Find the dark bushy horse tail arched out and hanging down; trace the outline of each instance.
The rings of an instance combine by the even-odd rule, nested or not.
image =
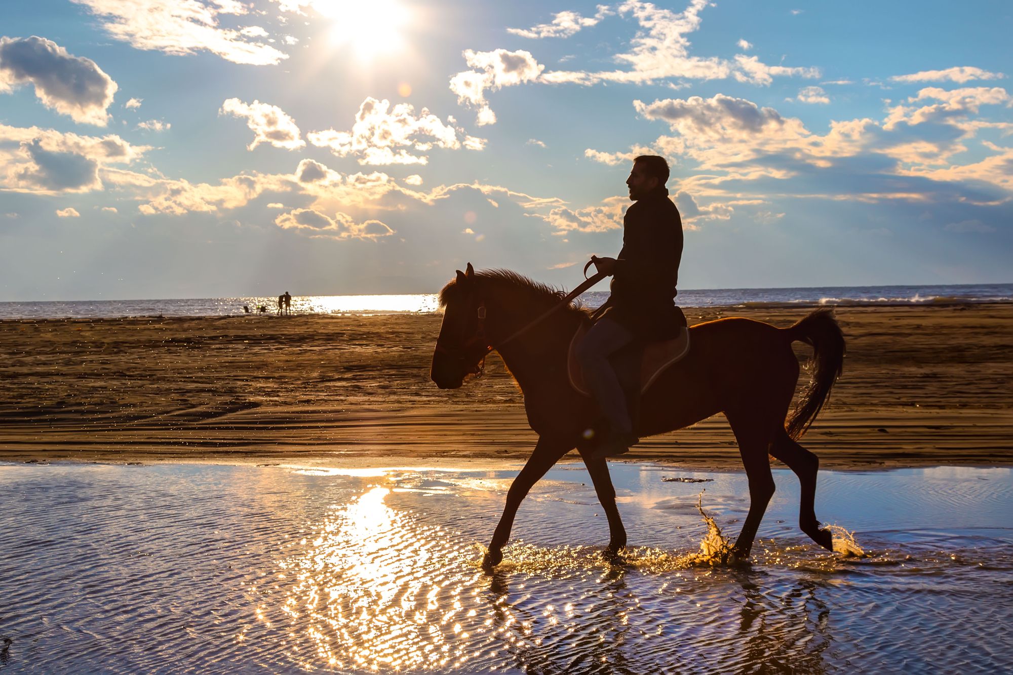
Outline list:
[[[816,419],[830,397],[834,382],[841,376],[844,367],[844,333],[834,318],[834,310],[830,307],[810,312],[808,316],[784,330],[791,342],[800,341],[813,349],[810,361],[812,378],[795,409],[785,422],[788,436],[797,441]]]

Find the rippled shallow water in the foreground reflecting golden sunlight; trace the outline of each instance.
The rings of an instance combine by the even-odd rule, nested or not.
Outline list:
[[[744,475],[614,464],[633,547],[612,566],[564,465],[487,576],[515,473],[0,466],[0,671],[1013,668],[1010,469],[821,473],[816,514],[865,558],[811,544],[776,471],[752,565],[713,567],[697,501],[733,536]]]

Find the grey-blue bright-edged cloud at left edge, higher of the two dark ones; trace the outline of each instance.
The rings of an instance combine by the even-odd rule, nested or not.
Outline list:
[[[32,84],[44,105],[74,122],[104,127],[116,83],[91,59],[75,57],[51,40],[0,38],[0,93]]]

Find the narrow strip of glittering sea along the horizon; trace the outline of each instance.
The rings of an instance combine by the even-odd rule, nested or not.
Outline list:
[[[597,307],[609,297],[592,291],[581,297]],[[931,305],[1013,302],[1013,284],[942,286],[827,286],[811,288],[726,288],[681,290],[682,307],[812,307],[821,305]],[[55,300],[0,302],[0,319],[109,318],[123,316],[230,316],[275,314],[277,297],[175,298],[152,300]],[[293,296],[298,314],[365,316],[439,311],[436,293],[406,295]]]

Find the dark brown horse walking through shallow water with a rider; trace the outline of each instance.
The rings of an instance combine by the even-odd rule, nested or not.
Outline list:
[[[502,516],[482,564],[502,560],[502,547],[521,502],[563,455],[576,448],[588,467],[609,523],[606,557],[621,559],[626,530],[616,507],[608,463],[594,452],[590,430],[601,428],[596,403],[578,393],[567,374],[570,340],[591,312],[565,303],[563,293],[504,270],[457,271],[440,292],[443,323],[431,378],[456,389],[468,375],[481,375],[485,356],[498,352],[524,393],[528,424],[538,441],[506,494]],[[553,307],[556,308],[553,311]],[[820,460],[798,444],[841,374],[844,335],[829,308],[820,308],[787,328],[747,318],[722,318],[689,328],[688,354],[669,366],[643,392],[635,423],[643,438],[689,427],[723,413],[738,443],[749,478],[750,510],[732,555],[749,558],[771,497],[770,457],[784,462],[801,484],[799,527],[833,550],[831,532],[820,527],[813,501]],[[799,365],[791,344],[813,348],[812,379],[791,414]]]

